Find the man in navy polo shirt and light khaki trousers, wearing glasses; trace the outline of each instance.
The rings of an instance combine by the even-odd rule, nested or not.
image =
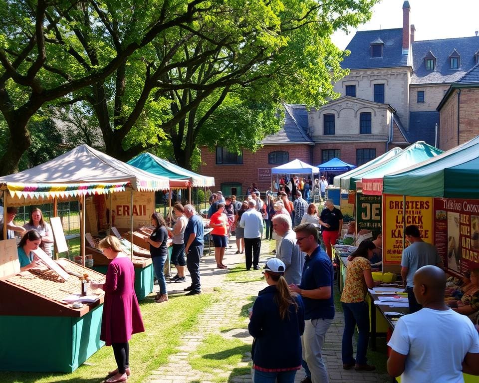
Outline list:
[[[329,382],[328,372],[321,354],[326,332],[334,319],[333,265],[318,244],[318,231],[312,223],[294,228],[296,243],[307,254],[301,275],[301,284],[289,285],[303,298],[304,334],[303,359],[311,372],[312,383]]]

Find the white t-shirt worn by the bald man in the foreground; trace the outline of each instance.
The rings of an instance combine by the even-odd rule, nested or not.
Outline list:
[[[467,316],[423,308],[399,319],[388,346],[408,356],[401,383],[458,383],[466,354],[479,353],[479,336]]]

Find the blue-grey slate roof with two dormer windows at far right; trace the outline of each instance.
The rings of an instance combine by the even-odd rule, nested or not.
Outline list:
[[[449,56],[454,50],[460,54],[459,69],[451,69]],[[479,49],[479,37],[442,38],[438,40],[414,41],[412,84],[452,83],[463,77],[476,65],[474,58]],[[424,58],[431,51],[436,60],[435,70],[427,70]]]

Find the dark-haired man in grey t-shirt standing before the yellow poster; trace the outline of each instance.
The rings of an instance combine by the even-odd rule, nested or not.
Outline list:
[[[414,274],[419,268],[426,265],[443,268],[443,261],[439,257],[436,247],[423,241],[418,226],[406,226],[404,235],[410,245],[403,250],[401,277],[403,278],[404,288],[408,292],[409,312],[412,314],[423,308],[414,297]]]

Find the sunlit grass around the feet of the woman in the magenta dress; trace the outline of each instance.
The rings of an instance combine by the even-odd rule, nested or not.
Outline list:
[[[130,341],[129,383],[143,382],[168,356],[178,352],[181,337],[198,324],[198,315],[219,299],[217,294],[192,297],[170,296],[168,304],[155,304],[152,299],[140,303],[145,332]],[[175,325],[172,326],[172,323]],[[34,358],[34,355],[25,355]],[[102,382],[108,371],[116,368],[113,350],[103,347],[72,374],[0,372],[2,383],[86,383]]]

